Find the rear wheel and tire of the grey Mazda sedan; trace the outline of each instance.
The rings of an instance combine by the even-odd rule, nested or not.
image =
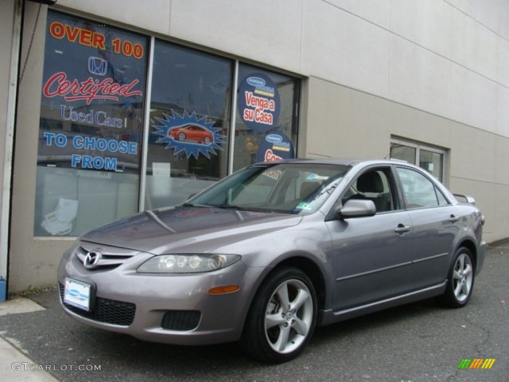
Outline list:
[[[437,298],[440,305],[448,308],[462,308],[467,305],[474,287],[475,269],[469,249],[461,247],[456,251],[453,266],[449,270],[447,287]]]

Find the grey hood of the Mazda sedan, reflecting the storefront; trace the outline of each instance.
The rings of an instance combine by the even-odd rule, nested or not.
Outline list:
[[[244,238],[299,224],[301,216],[209,207],[145,211],[81,236],[81,240],[130,250],[213,252]]]

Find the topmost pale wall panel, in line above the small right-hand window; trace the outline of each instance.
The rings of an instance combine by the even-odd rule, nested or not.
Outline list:
[[[392,0],[390,30],[443,57],[450,57],[452,17],[453,8],[443,0]]]

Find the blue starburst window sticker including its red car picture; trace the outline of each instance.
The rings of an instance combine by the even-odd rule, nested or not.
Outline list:
[[[160,125],[152,125],[154,133],[160,135],[157,143],[166,143],[167,149],[173,149],[174,155],[184,152],[186,157],[200,154],[210,158],[210,154],[216,155],[216,150],[222,150],[219,146],[224,135],[218,127],[213,127],[215,121],[207,117],[198,118],[196,113],[189,114],[184,111],[180,116],[172,110],[172,115],[163,113],[164,118],[157,118]]]

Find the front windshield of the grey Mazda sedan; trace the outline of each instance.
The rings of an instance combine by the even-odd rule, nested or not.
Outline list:
[[[184,205],[311,213],[323,204],[348,169],[317,163],[264,163],[236,172]]]

